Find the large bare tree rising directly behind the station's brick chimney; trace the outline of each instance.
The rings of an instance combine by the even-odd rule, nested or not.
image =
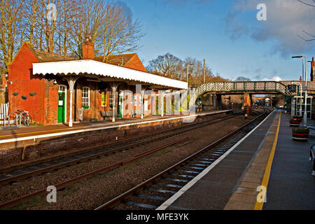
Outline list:
[[[82,58],[82,43],[85,36],[91,36],[95,54],[109,62],[109,56],[134,52],[144,36],[138,21],[132,22],[122,6],[101,0],[77,0],[76,15],[72,20],[71,52]]]

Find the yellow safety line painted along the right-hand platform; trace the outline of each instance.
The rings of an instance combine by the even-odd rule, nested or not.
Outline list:
[[[281,112],[279,116],[278,127],[276,128],[276,135],[274,137],[274,143],[272,144],[272,151],[270,152],[269,160],[267,162],[267,166],[265,169],[265,174],[261,183],[261,186],[265,187],[266,193],[267,193],[267,186],[268,186],[269,177],[270,177],[271,168],[272,168],[272,162],[274,160],[274,153],[276,151],[276,144],[278,142],[280,123],[281,123]],[[263,206],[264,206],[264,202],[258,202],[258,200],[256,200],[255,207],[253,210],[262,210]]]

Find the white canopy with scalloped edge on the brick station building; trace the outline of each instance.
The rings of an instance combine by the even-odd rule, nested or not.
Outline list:
[[[81,59],[62,62],[37,62],[33,63],[33,74],[43,76],[85,76],[97,78],[102,81],[126,81],[130,85],[150,85],[155,88],[171,88],[187,90],[188,83],[158,76],[144,71],[128,69],[92,59]]]

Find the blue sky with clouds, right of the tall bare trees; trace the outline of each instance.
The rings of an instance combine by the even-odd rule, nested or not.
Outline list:
[[[307,2],[307,0],[305,0]],[[297,0],[120,0],[139,20],[144,65],[167,52],[206,59],[223,78],[298,80],[302,61],[315,56],[315,8]],[[267,6],[267,21],[258,21],[258,3]],[[311,23],[313,25],[311,25]],[[309,69],[308,69],[309,70]],[[309,76],[309,75],[308,75]]]

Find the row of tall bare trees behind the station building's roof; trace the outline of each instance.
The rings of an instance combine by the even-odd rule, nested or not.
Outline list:
[[[82,58],[82,44],[90,36],[95,55],[139,49],[141,25],[119,3],[104,0],[1,0],[0,62],[6,73],[14,55],[29,41],[35,49]]]

